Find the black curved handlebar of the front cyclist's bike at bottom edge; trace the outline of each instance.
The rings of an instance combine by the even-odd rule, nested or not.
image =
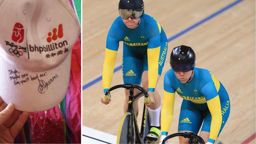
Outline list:
[[[181,137],[184,137],[184,138],[189,138],[189,144],[205,144],[203,138],[201,138],[199,135],[196,135],[195,133],[174,133],[174,134],[171,134],[171,135],[168,135],[167,137],[165,137],[163,139],[163,142],[162,144],[165,143],[166,140],[170,139],[170,138],[173,138],[173,137],[178,137],[178,136],[181,136]]]

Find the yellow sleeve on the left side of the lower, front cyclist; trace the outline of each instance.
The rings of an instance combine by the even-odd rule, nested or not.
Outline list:
[[[161,131],[168,133],[173,120],[175,93],[170,93],[163,90],[163,107],[161,111]]]

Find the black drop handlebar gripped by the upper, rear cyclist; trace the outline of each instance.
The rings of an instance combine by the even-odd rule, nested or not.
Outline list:
[[[127,83],[127,84],[125,84],[125,85],[116,85],[116,86],[113,86],[113,87],[111,87],[110,89],[108,89],[108,90],[106,91],[106,93],[105,93],[105,96],[104,96],[105,100],[108,100],[108,93],[109,93],[110,91],[112,91],[112,90],[114,90],[114,89],[118,89],[118,88],[125,88],[125,89],[128,89],[128,90],[134,89],[134,88],[135,88],[135,89],[138,89],[138,90],[140,90],[141,92],[143,92],[143,94],[145,95],[146,102],[147,102],[147,103],[150,102],[150,100],[149,100],[149,98],[148,98],[148,93],[146,92],[145,89],[143,89],[143,87],[140,87],[139,85],[132,85],[132,84],[130,84],[130,83]]]

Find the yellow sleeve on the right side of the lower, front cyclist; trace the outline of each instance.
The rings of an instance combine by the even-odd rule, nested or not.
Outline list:
[[[216,140],[222,123],[221,102],[219,100],[219,95],[211,100],[208,100],[207,105],[211,113],[211,127],[209,138],[211,138],[212,140]]]

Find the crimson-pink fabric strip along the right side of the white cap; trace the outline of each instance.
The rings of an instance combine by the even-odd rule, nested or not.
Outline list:
[[[71,58],[69,89],[66,95],[66,123],[71,143],[81,143],[81,44],[77,39]]]

